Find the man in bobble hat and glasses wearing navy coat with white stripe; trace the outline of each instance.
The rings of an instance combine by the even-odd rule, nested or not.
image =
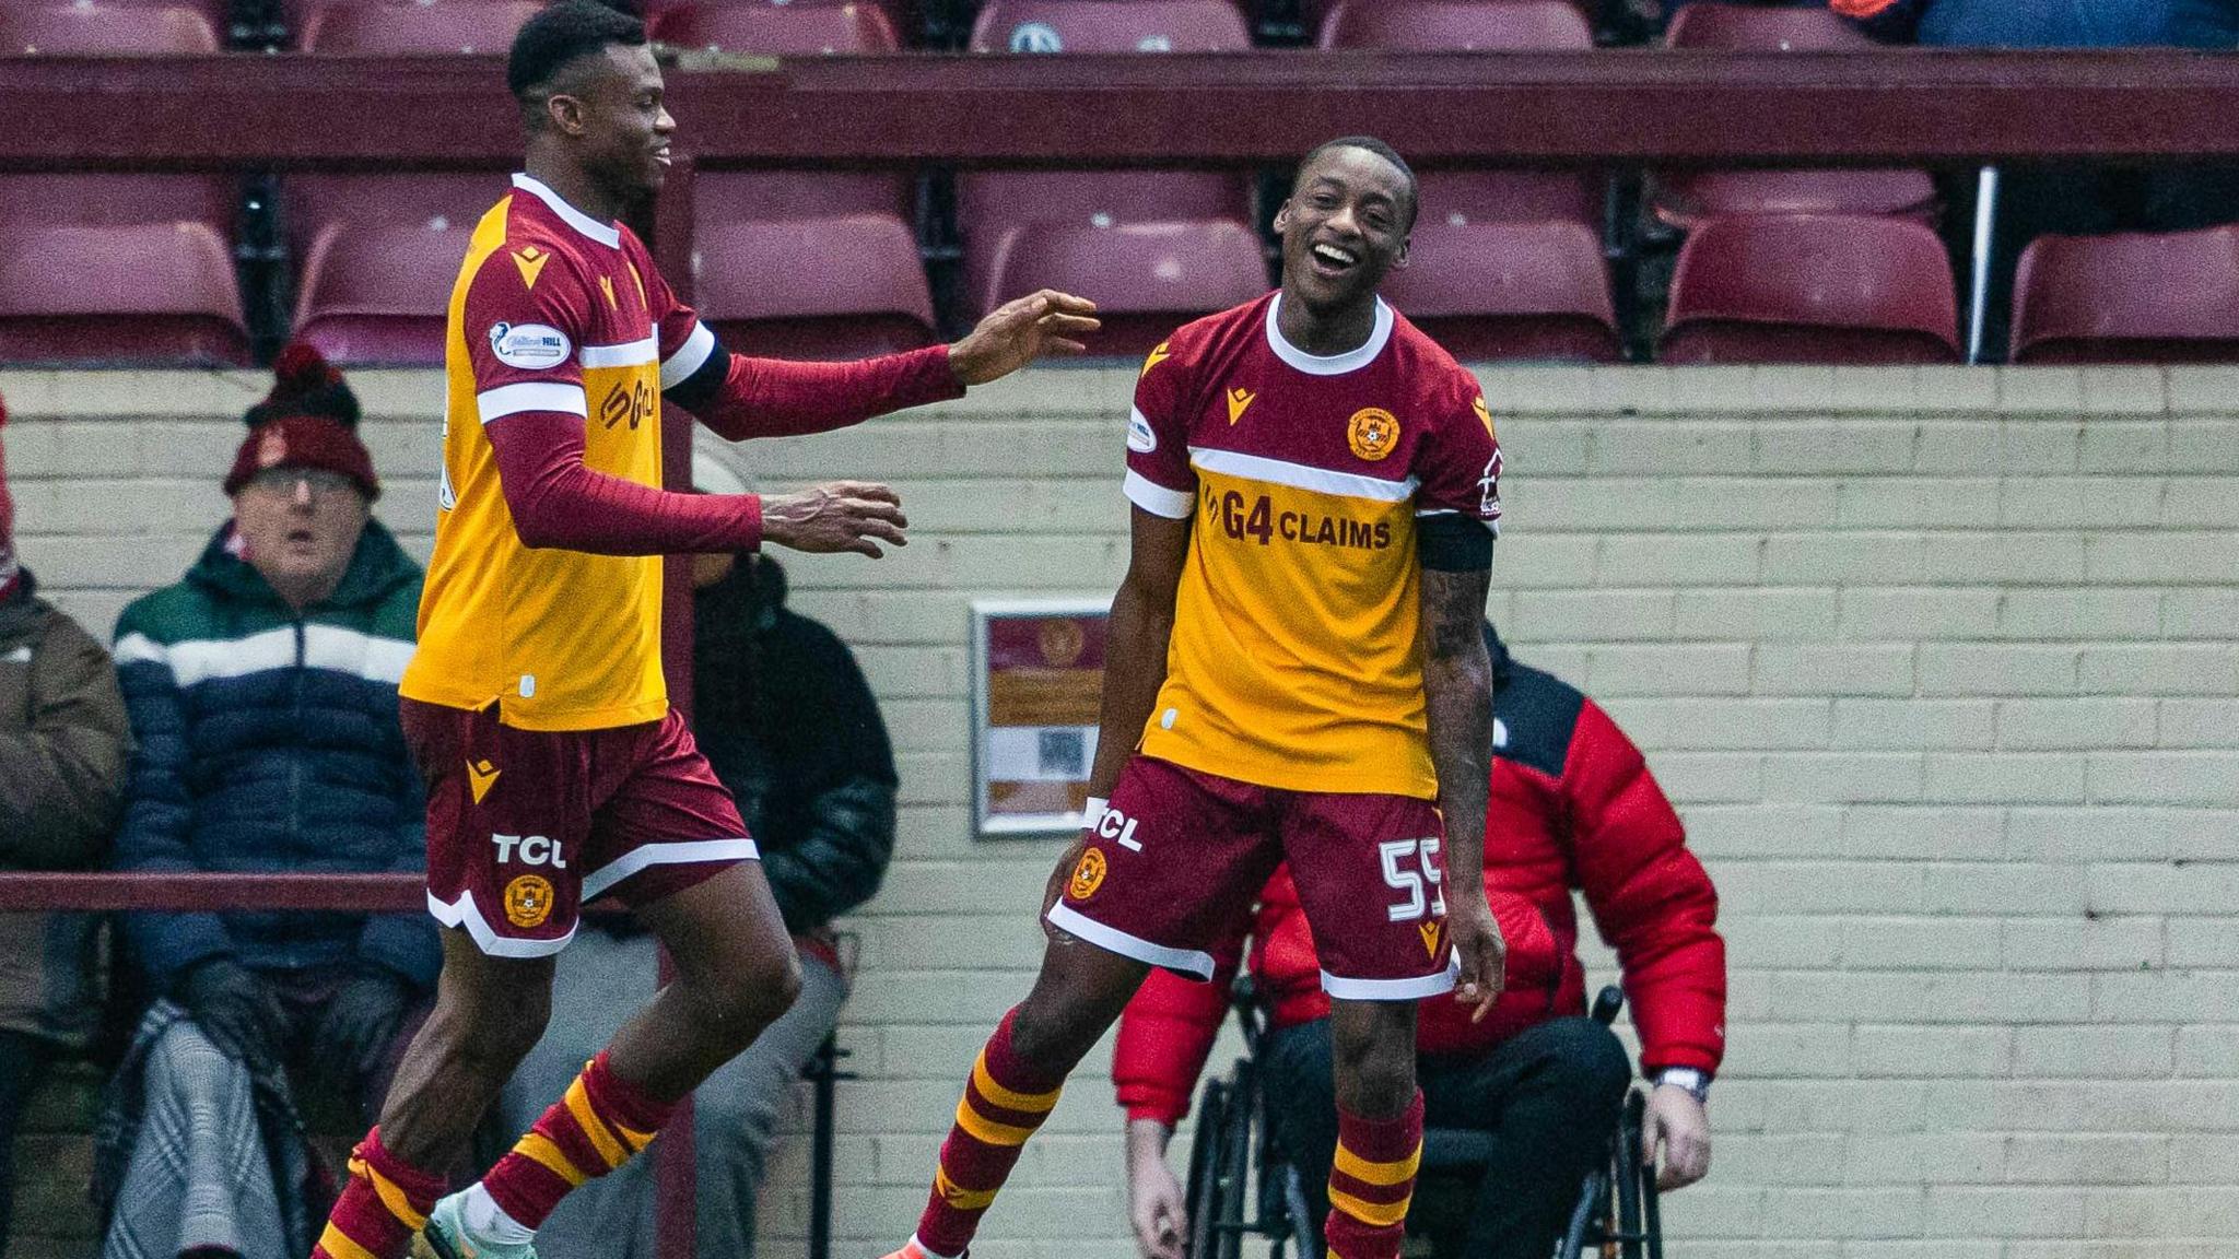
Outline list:
[[[356,423],[340,372],[282,352],[224,482],[233,520],[119,618],[139,748],[116,869],[421,869],[421,777],[396,724],[421,569],[369,520],[381,482]],[[161,999],[103,1120],[103,1255],[309,1255],[289,1080],[374,1113],[434,981],[434,923],[134,914],[125,943]]]

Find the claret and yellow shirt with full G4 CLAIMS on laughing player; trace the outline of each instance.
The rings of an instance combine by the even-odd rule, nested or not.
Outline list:
[[[1476,379],[1384,302],[1337,356],[1283,341],[1278,305],[1182,327],[1135,383],[1126,495],[1196,517],[1142,750],[1285,791],[1433,800],[1415,522],[1498,531],[1493,421]]]

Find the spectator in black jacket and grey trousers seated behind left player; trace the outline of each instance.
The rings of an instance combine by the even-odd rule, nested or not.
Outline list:
[[[703,491],[748,493],[701,457]],[[802,997],[694,1093],[696,1250],[755,1252],[755,1192],[777,1116],[840,1024],[846,972],[833,918],[878,892],[893,854],[893,748],[855,656],[824,625],[786,609],[786,573],[757,553],[692,565],[692,728],[739,800],[761,871],[802,957]],[[544,1039],[499,1095],[497,1125],[522,1131],[584,1060],[654,995],[654,936],[627,916],[587,918],[560,954]],[[569,1194],[537,1230],[540,1259],[654,1259],[652,1160],[636,1158]]]

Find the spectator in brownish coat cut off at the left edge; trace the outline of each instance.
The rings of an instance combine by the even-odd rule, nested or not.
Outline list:
[[[128,746],[110,654],[38,598],[16,560],[16,500],[0,453],[0,871],[96,865],[116,822]],[[92,945],[94,918],[83,914],[0,914],[0,1255],[16,1122],[47,1062],[83,1048],[94,1030]]]

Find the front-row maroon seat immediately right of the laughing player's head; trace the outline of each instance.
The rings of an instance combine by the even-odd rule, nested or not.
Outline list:
[[[1455,358],[1621,358],[1601,235],[1585,224],[1417,224],[1384,296]]]

